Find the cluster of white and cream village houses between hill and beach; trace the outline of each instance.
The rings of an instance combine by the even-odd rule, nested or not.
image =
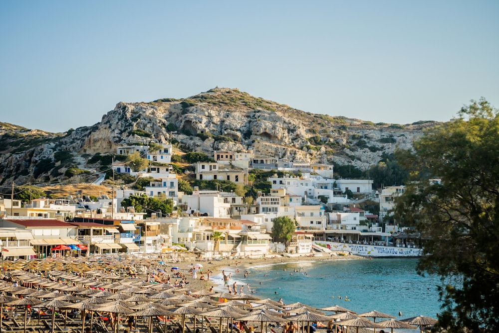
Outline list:
[[[271,187],[268,195],[258,193],[254,203],[247,204],[242,197],[223,189],[208,191],[195,188],[191,195],[179,192],[173,168],[152,163],[170,163],[171,145],[162,145],[154,152],[149,151],[149,146],[117,148],[117,153],[121,155],[136,151],[151,161],[146,169],[130,170],[120,163],[114,163],[112,167],[118,173],[153,177],[145,191],[117,188],[115,198],[101,196],[96,201],[83,198],[76,205],[69,200],[35,199],[24,206],[14,201],[12,206],[12,202],[0,200],[3,214],[0,241],[3,241],[3,228],[23,230],[24,233],[17,234],[19,238],[16,238],[15,231],[4,233],[12,235],[4,239],[11,248],[15,244],[26,247],[26,241],[29,241],[31,247],[27,247],[34,254],[19,250],[18,257],[54,255],[57,252],[53,253],[51,247],[58,245],[86,247],[91,253],[116,253],[168,251],[174,243],[204,251],[204,255],[213,255],[216,242],[212,235],[220,231],[223,239],[218,246],[223,255],[250,256],[283,250],[282,246],[276,246],[271,241],[268,234],[272,220],[279,216],[288,216],[296,222],[297,232],[293,234],[288,248],[292,253],[310,253],[313,239],[352,240],[358,239],[362,231],[381,231],[377,216],[352,207],[353,202],[343,194],[346,190],[370,194],[372,181],[335,180],[330,165],[258,158],[253,156],[251,150],[216,151],[215,162],[194,164],[197,179],[230,180],[236,184],[246,184],[252,168],[284,171],[282,176],[274,174],[268,178]],[[286,171],[299,171],[301,176],[286,174]],[[182,213],[174,212],[169,217],[152,214],[151,218],[144,219],[145,213],[136,213],[133,207],[121,206],[122,200],[132,195],[171,198],[175,206],[182,207]],[[319,196],[327,198],[329,205],[344,207],[343,210],[325,213],[326,205],[320,202]],[[383,192],[380,198],[385,198]],[[386,208],[384,212],[390,209],[385,203],[380,203],[380,208]],[[9,209],[11,213],[7,214]],[[24,248],[22,246],[20,248]],[[65,253],[60,251],[59,254]]]

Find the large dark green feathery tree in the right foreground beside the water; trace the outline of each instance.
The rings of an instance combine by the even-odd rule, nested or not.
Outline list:
[[[411,182],[396,212],[429,236],[447,332],[499,332],[499,115],[485,99],[397,151]],[[437,179],[437,180],[432,180]]]

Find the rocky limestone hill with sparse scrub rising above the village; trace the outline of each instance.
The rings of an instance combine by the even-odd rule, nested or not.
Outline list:
[[[409,148],[435,124],[375,124],[313,114],[217,87],[186,99],[120,102],[95,125],[65,133],[0,123],[0,185],[79,181],[67,170],[91,168],[89,161],[96,153],[115,154],[120,145],[170,141],[184,151],[209,155],[214,150],[253,149],[257,157],[366,169],[396,146]]]

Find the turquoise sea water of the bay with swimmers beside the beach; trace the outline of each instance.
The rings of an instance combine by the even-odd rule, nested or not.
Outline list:
[[[240,273],[230,266],[226,273],[231,272],[230,284],[236,281],[238,291],[244,284],[243,291],[248,294],[249,284],[255,296],[282,298],[285,304],[301,302],[316,308],[339,305],[357,313],[377,310],[397,319],[419,315],[436,318],[440,312],[438,280],[419,276],[415,271],[417,260],[386,258],[240,266]],[[293,272],[295,269],[301,272]]]

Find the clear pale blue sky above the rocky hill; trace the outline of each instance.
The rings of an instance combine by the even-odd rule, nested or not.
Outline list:
[[[499,107],[499,1],[0,1],[0,121],[66,131],[215,86],[374,122]]]

